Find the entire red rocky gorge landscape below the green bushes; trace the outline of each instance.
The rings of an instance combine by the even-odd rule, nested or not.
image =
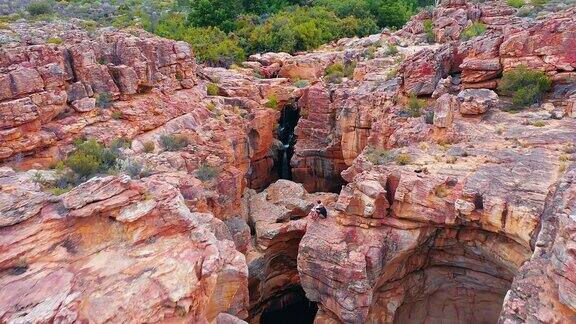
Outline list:
[[[446,0],[230,68],[0,29],[0,323],[576,323],[575,16]]]

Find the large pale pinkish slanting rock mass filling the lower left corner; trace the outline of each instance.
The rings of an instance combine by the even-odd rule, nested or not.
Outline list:
[[[190,212],[169,184],[106,177],[55,198],[31,172],[0,174],[2,322],[247,315],[244,256],[221,221]]]

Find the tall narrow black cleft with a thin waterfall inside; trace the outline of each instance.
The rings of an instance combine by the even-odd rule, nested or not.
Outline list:
[[[286,104],[282,109],[280,120],[278,121],[278,129],[276,130],[276,136],[282,143],[282,146],[278,149],[278,156],[275,162],[275,169],[280,179],[292,180],[290,160],[294,155],[294,145],[296,145],[297,140],[294,130],[296,125],[298,125],[299,119],[300,108],[296,107],[295,104]]]

